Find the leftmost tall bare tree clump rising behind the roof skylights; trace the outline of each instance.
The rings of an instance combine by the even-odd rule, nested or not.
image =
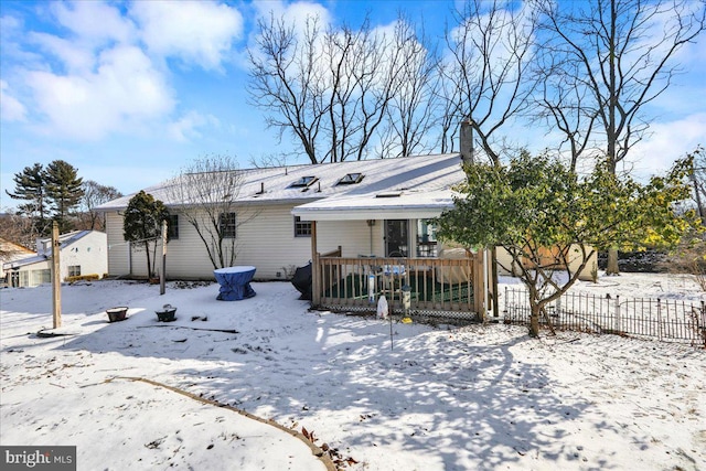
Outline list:
[[[396,33],[404,30],[398,29]],[[250,103],[279,137],[290,135],[311,163],[366,158],[400,87],[405,50],[366,19],[322,31],[318,18],[297,29],[284,19],[258,23],[248,51]]]

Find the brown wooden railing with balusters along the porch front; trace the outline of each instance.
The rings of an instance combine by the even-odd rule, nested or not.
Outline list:
[[[389,308],[399,312],[403,309],[403,287],[408,287],[413,312],[483,312],[485,287],[479,258],[343,258],[318,255],[312,264],[312,304],[375,312],[379,296],[384,295]]]

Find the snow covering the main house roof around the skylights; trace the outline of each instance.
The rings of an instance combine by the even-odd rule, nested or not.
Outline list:
[[[463,180],[459,153],[403,157],[397,159],[375,159],[345,161],[338,163],[301,164],[264,169],[237,170],[242,179],[239,203],[275,203],[299,200],[302,204],[335,195],[360,195],[386,191],[426,191],[449,189]],[[361,173],[359,183],[339,184],[347,174]],[[292,186],[306,176],[317,180],[308,186]],[[176,179],[145,189],[168,206],[179,206],[172,192]],[[411,194],[411,193],[410,193]],[[116,211],[127,207],[130,194],[105,203],[99,211]]]

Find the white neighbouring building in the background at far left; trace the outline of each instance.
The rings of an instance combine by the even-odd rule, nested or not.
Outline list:
[[[75,231],[60,240],[60,279],[108,272],[108,239],[98,231]],[[32,287],[52,281],[52,239],[36,242],[36,255],[2,265],[10,287]]]

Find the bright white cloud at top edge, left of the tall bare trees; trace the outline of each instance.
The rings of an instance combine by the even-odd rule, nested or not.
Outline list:
[[[205,1],[138,1],[130,10],[142,26],[142,41],[152,54],[181,58],[217,69],[243,34],[243,17],[234,8]]]

